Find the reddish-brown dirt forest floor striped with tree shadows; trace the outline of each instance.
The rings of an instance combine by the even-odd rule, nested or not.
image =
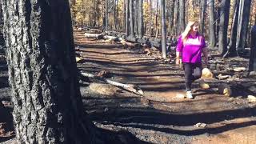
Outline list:
[[[134,84],[144,91],[141,96],[92,78],[90,82],[80,81],[82,101],[95,126],[128,131],[138,143],[256,143],[256,102],[248,101],[246,90],[238,89],[232,97],[218,94],[218,85],[224,81],[218,81],[215,74],[206,80],[209,90],[201,90],[196,81],[195,98],[181,98],[185,94],[181,66],[162,60],[156,51],[147,55],[143,49],[84,38],[83,33],[74,32],[77,53],[82,58],[79,70],[91,74],[106,70],[111,80]],[[210,54],[211,69],[248,67],[246,58],[222,60],[214,52]],[[255,85],[255,78],[242,77],[245,73],[230,77]],[[0,62],[0,100],[4,104],[0,107],[0,142],[12,142],[14,138],[7,78],[6,63]]]

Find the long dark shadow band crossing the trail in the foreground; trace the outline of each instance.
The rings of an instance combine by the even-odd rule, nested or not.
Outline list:
[[[97,114],[90,114],[93,121],[102,124],[113,124],[115,126],[130,126],[143,130],[156,130],[168,134],[182,134],[186,136],[199,134],[218,134],[227,130],[234,130],[245,126],[253,126],[256,121],[229,123],[225,126],[214,128],[203,128],[197,130],[175,130],[165,126],[194,126],[198,122],[211,124],[232,120],[234,118],[250,118],[256,116],[254,108],[241,108],[237,110],[222,110],[217,112],[205,112],[194,114],[171,114],[154,108],[120,108],[112,107],[109,111]]]

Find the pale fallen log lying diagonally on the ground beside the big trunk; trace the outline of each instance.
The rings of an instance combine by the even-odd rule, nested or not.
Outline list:
[[[111,81],[110,79],[101,78],[101,77],[98,77],[94,74],[89,74],[89,73],[86,73],[86,72],[81,72],[81,74],[82,74],[82,76],[85,76],[85,77],[88,77],[88,78],[95,78],[95,79],[98,79],[100,81],[106,82],[110,85],[121,87],[122,89],[133,92],[134,94],[138,94],[138,95],[143,95],[144,94],[144,92],[142,91],[141,88],[139,88],[138,86],[135,86],[133,84],[124,84],[124,83],[120,83],[120,82],[114,82],[114,81]]]

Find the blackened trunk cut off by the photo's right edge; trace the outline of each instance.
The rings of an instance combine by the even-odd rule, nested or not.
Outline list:
[[[249,71],[256,71],[256,25],[251,29]]]

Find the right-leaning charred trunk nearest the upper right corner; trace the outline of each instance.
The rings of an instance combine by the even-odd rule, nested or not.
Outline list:
[[[250,18],[250,3],[251,0],[240,0],[238,16],[238,34],[236,42],[236,50],[238,55],[242,54],[246,46],[247,28]]]

